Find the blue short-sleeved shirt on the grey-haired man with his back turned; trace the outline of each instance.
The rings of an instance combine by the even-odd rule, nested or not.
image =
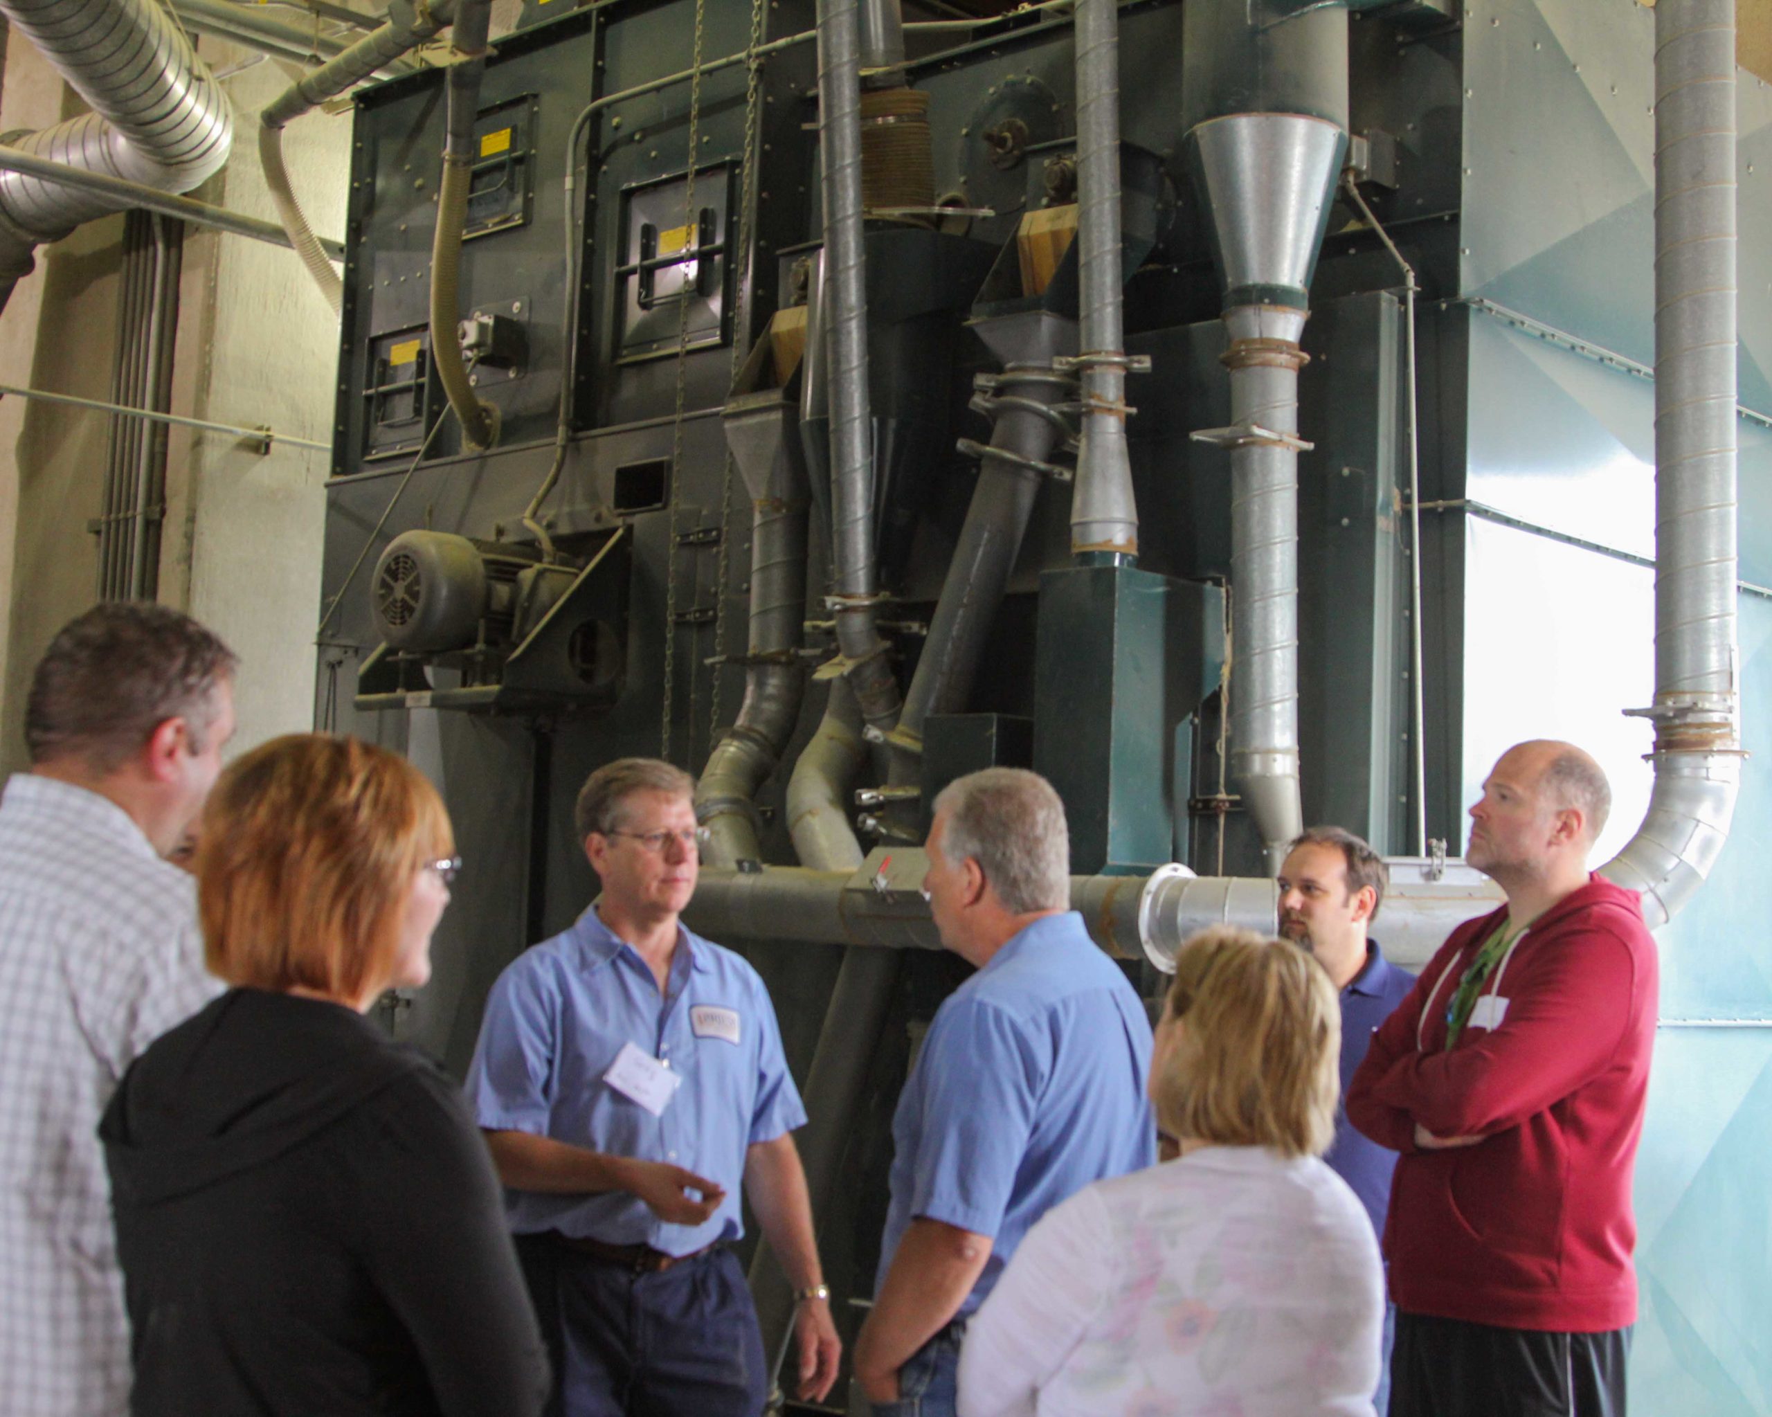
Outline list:
[[[1083,916],[1010,939],[936,1010],[898,1096],[875,1289],[911,1220],[943,1220],[992,1236],[971,1314],[1047,1210],[1155,1164],[1148,1072],[1145,1006]]]

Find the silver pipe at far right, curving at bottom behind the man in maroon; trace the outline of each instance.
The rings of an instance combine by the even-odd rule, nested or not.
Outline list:
[[[1602,871],[1650,928],[1705,884],[1740,792],[1735,0],[1655,7],[1655,785]]]

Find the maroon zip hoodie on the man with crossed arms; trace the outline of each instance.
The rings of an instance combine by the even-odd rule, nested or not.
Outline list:
[[[1451,933],[1348,1086],[1354,1127],[1402,1153],[1384,1227],[1391,1298],[1504,1328],[1623,1328],[1637,1318],[1630,1173],[1655,1041],[1655,941],[1637,894],[1589,875],[1490,974],[1483,994],[1504,1010],[1480,1006],[1448,1052],[1458,978],[1504,918]],[[1421,1151],[1416,1123],[1483,1141]]]

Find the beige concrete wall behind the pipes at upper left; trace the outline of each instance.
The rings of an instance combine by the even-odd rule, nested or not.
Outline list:
[[[7,46],[0,131],[43,128],[80,99],[18,35]],[[275,220],[255,151],[255,113],[292,66],[202,41],[236,108],[227,172],[197,197]],[[314,113],[285,152],[315,228],[344,223],[349,113]],[[122,220],[39,248],[0,315],[0,381],[108,399]],[[174,413],[326,441],[337,321],[294,253],[190,228],[184,243]],[[0,399],[0,770],[23,763],[30,670],[55,629],[94,602],[96,538],[110,420]],[[236,749],[310,726],[319,620],[321,484],[326,455],[273,443],[259,455],[227,434],[174,430],[167,462],[159,599],[211,623],[245,659]]]

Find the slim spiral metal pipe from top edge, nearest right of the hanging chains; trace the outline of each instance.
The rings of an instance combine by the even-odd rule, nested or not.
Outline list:
[[[868,413],[856,0],[819,0],[819,159],[831,374],[831,561],[836,648],[868,726],[898,723],[898,680],[877,625],[874,423]]]

